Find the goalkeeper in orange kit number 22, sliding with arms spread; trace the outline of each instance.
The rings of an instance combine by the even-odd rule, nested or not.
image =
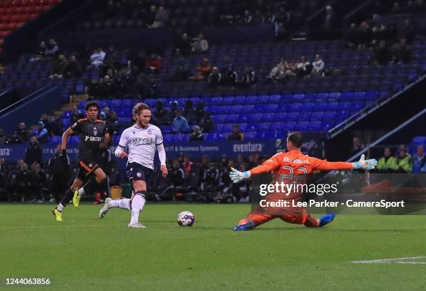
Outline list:
[[[352,171],[356,168],[371,170],[377,165],[375,159],[365,160],[364,155],[361,156],[359,162],[354,163],[327,162],[326,160],[309,157],[301,153],[302,143],[302,135],[299,132],[291,132],[287,136],[288,152],[280,152],[250,171],[240,172],[232,168],[232,172],[230,173],[232,182],[238,183],[246,178],[250,178],[251,175],[271,172],[273,177],[271,184],[276,184],[276,182],[305,184],[306,175],[315,170]],[[301,193],[297,191],[285,194],[273,192],[267,195],[265,205],[268,206],[271,205],[270,202],[278,202],[280,200],[290,201],[288,205],[297,205],[297,202],[301,200],[301,196]],[[292,200],[294,200],[294,204]],[[269,204],[267,204],[268,202]],[[234,230],[250,230],[276,218],[289,223],[304,224],[307,227],[316,228],[325,226],[327,223],[333,221],[334,214],[325,214],[323,217],[316,219],[304,207],[261,207],[259,205],[255,210],[248,213],[245,219],[239,221],[238,226],[235,226]]]

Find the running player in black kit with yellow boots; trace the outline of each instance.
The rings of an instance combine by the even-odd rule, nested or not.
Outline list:
[[[104,121],[97,119],[99,105],[96,102],[88,102],[85,109],[87,118],[77,120],[62,136],[61,155],[66,155],[68,135],[79,134],[79,171],[72,186],[65,192],[61,203],[52,210],[56,221],[62,221],[62,211],[70,200],[75,207],[78,207],[81,195],[96,189],[107,178],[97,164],[100,143],[102,141],[111,143],[107,125]]]

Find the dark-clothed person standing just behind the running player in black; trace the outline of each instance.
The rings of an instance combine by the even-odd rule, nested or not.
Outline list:
[[[70,171],[70,158],[68,155],[62,154],[62,145],[59,143],[56,146],[56,152],[49,159],[48,162],[49,172],[52,175],[52,190],[53,197],[51,202],[58,202],[62,198],[62,193],[70,186],[69,171]]]

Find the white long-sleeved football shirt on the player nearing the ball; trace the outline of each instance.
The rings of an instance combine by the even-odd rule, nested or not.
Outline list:
[[[163,135],[157,126],[148,124],[146,128],[139,128],[133,125],[123,131],[118,146],[122,150],[128,149],[127,163],[138,163],[154,169],[155,152],[161,143]]]

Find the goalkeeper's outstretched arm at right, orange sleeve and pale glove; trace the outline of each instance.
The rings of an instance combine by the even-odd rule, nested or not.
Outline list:
[[[310,158],[313,162],[313,170],[319,171],[352,171],[357,168],[364,170],[372,170],[377,166],[376,159],[365,159],[365,155],[361,155],[358,162],[328,162],[326,159]]]

